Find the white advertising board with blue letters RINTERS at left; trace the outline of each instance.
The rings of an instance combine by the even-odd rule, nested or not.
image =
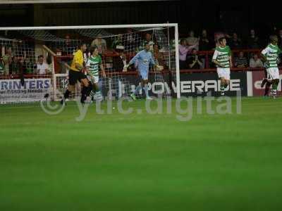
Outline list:
[[[51,79],[20,79],[0,80],[0,103],[27,103],[41,101],[45,94],[50,93]]]

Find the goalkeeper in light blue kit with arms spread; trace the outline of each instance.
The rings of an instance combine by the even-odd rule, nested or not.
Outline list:
[[[134,91],[133,94],[131,94],[131,98],[133,100],[136,100],[135,95],[140,91],[140,89],[144,89],[146,94],[147,100],[152,100],[152,98],[149,97],[148,94],[148,75],[149,75],[149,64],[151,63],[154,65],[158,70],[163,70],[164,68],[162,66],[159,66],[154,61],[154,58],[152,56],[152,52],[149,51],[150,46],[149,43],[145,44],[145,49],[137,53],[128,63],[128,65],[125,65],[124,68],[128,68],[130,65],[133,65],[137,61],[137,70],[139,72],[139,75],[141,77],[141,84],[138,85]]]

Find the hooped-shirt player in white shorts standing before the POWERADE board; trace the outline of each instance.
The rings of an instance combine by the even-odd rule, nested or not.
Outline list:
[[[212,62],[216,64],[217,75],[221,80],[221,95],[224,95],[224,89],[230,82],[230,68],[232,68],[231,49],[226,46],[226,39],[219,38],[219,46],[214,51]]]

